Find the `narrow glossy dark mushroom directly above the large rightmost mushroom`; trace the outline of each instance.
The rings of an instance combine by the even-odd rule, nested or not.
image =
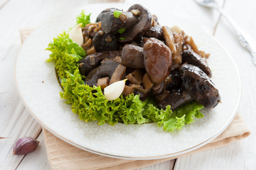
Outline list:
[[[183,58],[183,63],[188,63],[195,65],[199,67],[203,72],[207,74],[208,77],[212,77],[210,68],[208,67],[208,64],[203,60],[203,58],[196,54],[196,52],[185,50],[182,52],[182,58]]]

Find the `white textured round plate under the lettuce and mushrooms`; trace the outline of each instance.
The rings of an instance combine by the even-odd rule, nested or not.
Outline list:
[[[93,4],[84,6],[92,13],[92,22],[105,8],[129,8],[127,4]],[[154,9],[150,9],[154,11]],[[80,8],[70,11],[33,31],[21,47],[16,61],[16,83],[24,104],[44,128],[71,145],[90,152],[123,159],[158,159],[173,157],[197,149],[220,135],[235,116],[240,101],[238,69],[228,52],[215,38],[194,24],[166,16],[168,11],[154,13],[161,25],[178,25],[193,36],[199,48],[210,52],[208,63],[212,80],[219,89],[222,103],[211,110],[203,110],[204,118],[186,125],[175,133],[164,132],[156,124],[102,125],[85,123],[72,113],[70,106],[60,99],[62,91],[55,76],[50,52],[44,50],[56,35],[75,26]]]

